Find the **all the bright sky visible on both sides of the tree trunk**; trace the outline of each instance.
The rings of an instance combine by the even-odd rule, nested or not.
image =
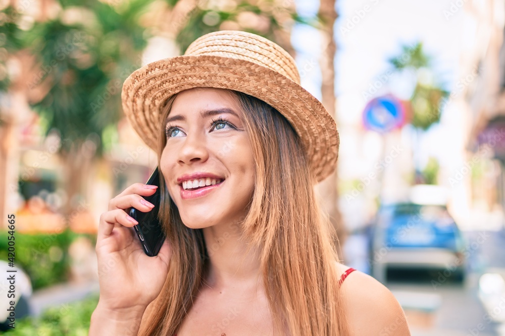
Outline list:
[[[401,53],[402,44],[423,42],[425,52],[432,56],[438,82],[448,91],[453,88],[459,76],[460,50],[465,42],[465,34],[462,32],[466,21],[464,11],[459,8],[454,15],[446,17],[451,3],[455,2],[456,0],[337,0],[339,18],[335,27],[335,84],[337,119],[341,125],[360,122],[368,101],[364,98],[364,93],[390,69],[387,60]],[[300,14],[310,15],[317,12],[319,2],[296,0],[296,6]],[[301,76],[302,86],[321,98],[321,75],[317,64],[321,50],[319,34],[313,28],[300,25],[293,31],[292,43],[298,52],[297,65],[302,75],[305,75]],[[313,59],[316,63],[313,68],[315,71],[311,71]],[[383,82],[385,85],[380,89],[382,91],[372,94],[372,97],[389,92],[400,98],[410,97],[412,88],[399,77],[392,76]],[[431,132],[440,133],[436,128]],[[425,157],[428,154],[440,157],[442,153],[436,151],[436,146],[423,150]]]

